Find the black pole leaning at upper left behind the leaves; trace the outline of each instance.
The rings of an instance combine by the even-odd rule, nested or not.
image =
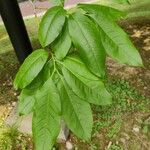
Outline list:
[[[0,14],[20,63],[32,52],[32,46],[17,0],[0,0]]]

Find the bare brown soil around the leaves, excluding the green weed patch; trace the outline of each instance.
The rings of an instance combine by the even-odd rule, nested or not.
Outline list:
[[[141,94],[150,98],[150,22],[123,22],[121,26],[130,35],[133,43],[140,51],[145,67],[128,67],[108,58],[108,76],[110,80],[111,77],[116,76],[116,78],[129,81]],[[13,103],[17,101],[18,93],[14,91],[12,82],[18,67],[19,64],[14,52],[0,55],[0,108],[5,110],[0,112],[1,118],[7,117]],[[93,135],[93,143],[84,143],[77,140],[73,135],[70,136],[69,141],[74,146],[76,145],[78,147],[76,149],[79,150],[105,150],[113,144],[122,145],[124,150],[150,150],[149,137],[139,131],[141,129],[139,120],[149,118],[149,116],[150,112],[127,112],[122,118],[124,123],[115,139],[107,138],[104,130]],[[94,147],[94,144],[97,148]],[[65,149],[62,145],[59,147],[59,149]]]

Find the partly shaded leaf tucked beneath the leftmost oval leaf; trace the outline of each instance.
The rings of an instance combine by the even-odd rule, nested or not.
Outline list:
[[[53,61],[50,59],[44,65],[38,76],[22,90],[19,96],[18,105],[18,113],[20,115],[27,115],[33,111],[36,93],[38,92],[39,88],[41,88],[41,86],[49,79],[53,71]],[[55,74],[53,74],[53,80],[56,82],[57,80],[54,77]]]

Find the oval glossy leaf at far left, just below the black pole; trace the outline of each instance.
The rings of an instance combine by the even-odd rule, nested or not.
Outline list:
[[[48,52],[39,49],[30,54],[20,67],[14,80],[15,89],[23,89],[29,85],[42,70],[48,59]]]

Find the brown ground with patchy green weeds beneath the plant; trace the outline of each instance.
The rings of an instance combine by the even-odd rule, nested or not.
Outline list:
[[[114,97],[113,105],[103,108],[93,106],[95,124],[92,140],[90,143],[84,143],[71,135],[69,141],[76,149],[150,149],[150,22],[126,22],[122,26],[140,50],[145,68],[127,67],[108,58],[108,90]],[[34,46],[38,47],[38,44],[34,43]],[[12,81],[18,67],[13,51],[0,55],[1,122],[17,101],[18,93],[13,89]],[[1,132],[5,129],[3,124],[0,129]],[[23,146],[32,149],[32,142],[27,144],[28,137],[16,131],[14,134],[16,139],[13,140],[17,145],[14,150],[23,150]],[[8,135],[10,136],[10,131]],[[65,149],[63,144],[58,147]]]

